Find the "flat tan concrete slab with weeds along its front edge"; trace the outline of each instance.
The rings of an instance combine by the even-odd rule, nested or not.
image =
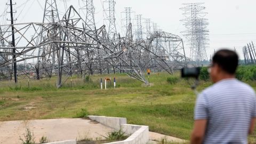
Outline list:
[[[0,122],[0,143],[21,143],[28,126],[35,141],[47,137],[51,142],[63,140],[99,139],[113,131],[110,127],[82,118],[41,119]],[[102,138],[103,139],[103,138]]]

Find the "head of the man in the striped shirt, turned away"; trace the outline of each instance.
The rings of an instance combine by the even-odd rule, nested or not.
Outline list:
[[[210,76],[214,83],[235,77],[238,66],[238,55],[234,51],[220,50],[212,58]]]

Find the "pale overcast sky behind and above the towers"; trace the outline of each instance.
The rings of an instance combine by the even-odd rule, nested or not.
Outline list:
[[[56,0],[60,16],[65,12],[65,6],[63,0]],[[67,1],[67,0],[66,0]],[[81,0],[69,0],[67,5],[73,5],[77,10],[80,6],[84,6],[82,1],[80,6],[78,1]],[[95,22],[97,27],[103,25],[103,6],[102,3],[105,0],[94,0],[95,7]],[[3,15],[6,8],[5,3],[8,0],[0,0],[0,23],[10,23],[5,21],[6,17]],[[21,22],[42,22],[43,20],[43,8],[45,0],[13,0],[17,5],[14,9],[17,10],[15,18],[16,23]],[[27,2],[27,3],[26,3]],[[214,1],[188,1],[188,0],[116,0],[116,27],[122,34],[121,27],[123,23],[121,19],[124,15],[121,12],[124,11],[124,7],[132,7],[133,15],[142,14],[142,18],[149,18],[151,21],[156,22],[159,29],[168,33],[179,35],[185,39],[180,31],[185,30],[183,23],[180,21],[183,17],[180,7],[182,3],[195,3],[203,2],[206,7],[205,12],[208,14],[206,18],[209,19],[210,30],[209,38],[210,45],[207,47],[206,52],[208,58],[215,50],[221,47],[228,47],[238,51],[241,59],[242,47],[251,41],[256,45],[256,1],[255,0],[214,0]],[[85,17],[83,14],[81,14]],[[9,13],[6,15],[10,19]],[[134,16],[132,17],[134,18]],[[255,46],[254,45],[254,46]],[[256,47],[255,47],[256,48]],[[185,45],[187,55],[189,55],[189,47]]]

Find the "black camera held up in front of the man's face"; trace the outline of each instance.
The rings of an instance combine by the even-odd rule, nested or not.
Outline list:
[[[200,67],[182,68],[181,77],[192,77],[198,79],[200,75],[200,69]]]

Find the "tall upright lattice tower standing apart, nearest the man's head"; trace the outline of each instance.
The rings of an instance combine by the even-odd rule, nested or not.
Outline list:
[[[207,30],[208,20],[205,19],[204,3],[186,3],[185,7],[180,8],[184,11],[184,26],[187,30],[181,33],[188,39],[190,47],[190,59],[200,65],[202,61],[208,60],[206,48],[208,44],[209,30]]]

